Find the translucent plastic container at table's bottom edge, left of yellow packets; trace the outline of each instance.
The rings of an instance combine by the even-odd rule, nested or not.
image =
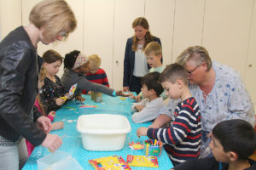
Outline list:
[[[78,169],[83,170],[70,154],[64,151],[56,150],[54,153],[49,154],[38,159],[38,170],[70,170]]]

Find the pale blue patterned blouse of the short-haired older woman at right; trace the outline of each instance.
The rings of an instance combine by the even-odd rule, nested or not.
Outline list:
[[[243,119],[255,125],[255,114],[253,102],[240,74],[233,68],[212,62],[215,71],[215,83],[205,102],[203,92],[197,84],[189,84],[190,93],[195,97],[201,110],[202,130],[210,132],[212,128],[221,121],[229,119]],[[172,117],[175,110],[172,99],[160,114]]]

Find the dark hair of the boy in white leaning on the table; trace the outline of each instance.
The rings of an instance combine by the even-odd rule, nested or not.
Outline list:
[[[150,72],[142,78],[142,85],[147,86],[148,90],[153,89],[157,96],[160,96],[164,91],[164,88],[158,82],[159,77],[159,72]]]

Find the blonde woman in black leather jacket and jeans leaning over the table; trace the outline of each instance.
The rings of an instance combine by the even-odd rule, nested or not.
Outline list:
[[[57,150],[61,138],[49,134],[51,123],[33,110],[38,85],[38,42],[48,45],[73,32],[77,21],[63,0],[44,0],[29,14],[30,24],[0,42],[0,169],[21,169],[27,160],[25,139]],[[33,117],[33,111],[36,115]]]

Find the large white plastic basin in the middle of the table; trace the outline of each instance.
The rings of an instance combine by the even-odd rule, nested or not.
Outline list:
[[[85,150],[122,150],[131,125],[125,116],[94,114],[79,116],[77,129]]]

